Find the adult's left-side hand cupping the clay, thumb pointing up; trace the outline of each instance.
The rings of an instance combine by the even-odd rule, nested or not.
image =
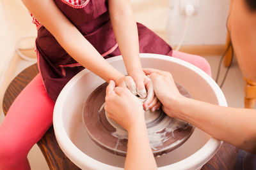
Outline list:
[[[128,132],[133,124],[145,124],[142,103],[127,88],[115,87],[115,81],[110,80],[105,100],[108,117]]]

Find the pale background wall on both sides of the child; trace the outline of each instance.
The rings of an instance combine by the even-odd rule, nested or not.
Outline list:
[[[138,22],[147,25],[177,45],[185,19],[179,13],[180,0],[130,0]],[[198,15],[191,17],[184,45],[221,45],[226,39],[226,18],[230,0],[200,0]],[[170,5],[172,4],[172,9]],[[166,37],[167,31],[170,33]],[[21,1],[0,0],[0,84],[3,72],[12,59],[15,43],[22,36],[36,36],[28,10]]]

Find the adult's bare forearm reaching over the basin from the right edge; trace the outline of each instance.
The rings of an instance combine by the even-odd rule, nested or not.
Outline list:
[[[256,153],[256,110],[227,108],[186,97],[176,104],[173,111],[177,118],[214,138]]]

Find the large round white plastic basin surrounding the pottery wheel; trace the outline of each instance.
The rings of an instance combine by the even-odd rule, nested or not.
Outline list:
[[[116,69],[126,74],[122,57],[108,59]],[[197,67],[165,55],[141,53],[143,67],[170,71],[200,101],[220,106],[227,102],[218,85]],[[58,97],[53,116],[56,139],[67,157],[81,169],[122,169],[124,157],[109,153],[95,145],[84,129],[83,104],[104,80],[84,69],[70,80]],[[156,158],[159,169],[200,169],[218,151],[221,141],[195,129],[192,136],[173,152]]]

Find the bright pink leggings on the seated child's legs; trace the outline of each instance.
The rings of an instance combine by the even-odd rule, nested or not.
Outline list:
[[[211,67],[202,57],[173,52],[211,76]],[[27,155],[52,125],[54,103],[38,74],[15,99],[0,126],[0,169],[30,169]]]

